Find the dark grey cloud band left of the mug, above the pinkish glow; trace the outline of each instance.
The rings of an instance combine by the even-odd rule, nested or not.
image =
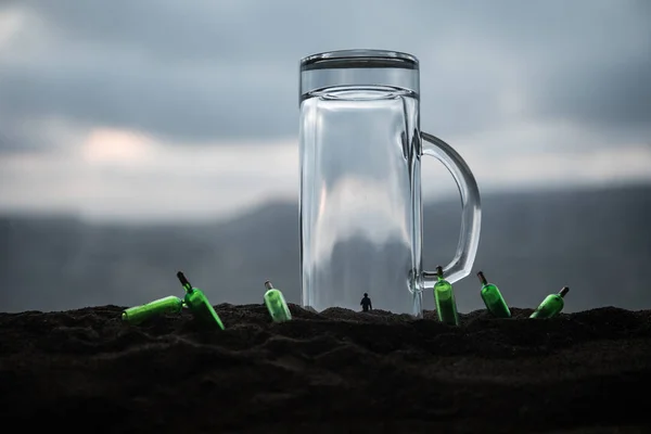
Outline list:
[[[4,67],[0,104],[18,118],[64,113],[85,126],[141,129],[177,140],[241,137],[247,130],[282,135],[293,127],[291,116],[268,102],[295,108],[295,87],[275,82],[273,75],[247,80],[234,71],[220,78],[217,72],[195,77],[170,69],[133,74],[102,65],[78,69],[52,65],[46,75]]]

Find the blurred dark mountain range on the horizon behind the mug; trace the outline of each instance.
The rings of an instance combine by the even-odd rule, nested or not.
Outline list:
[[[508,303],[535,307],[571,288],[566,310],[651,308],[651,187],[483,196],[475,271]],[[424,265],[451,259],[458,201],[424,207]],[[176,271],[213,304],[260,303],[270,279],[299,303],[298,212],[269,203],[209,225],[93,225],[62,217],[0,217],[0,311],[141,304],[177,294]],[[481,308],[473,275],[455,285],[459,309]],[[426,308],[433,307],[426,294]]]

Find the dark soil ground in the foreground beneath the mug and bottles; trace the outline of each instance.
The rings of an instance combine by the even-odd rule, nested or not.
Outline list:
[[[202,331],[122,309],[0,314],[2,431],[651,433],[651,310],[447,327],[292,305],[275,324],[225,304]]]

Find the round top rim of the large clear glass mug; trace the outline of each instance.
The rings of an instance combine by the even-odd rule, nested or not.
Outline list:
[[[418,69],[418,59],[409,53],[392,50],[349,49],[323,51],[301,59],[301,69],[332,67],[401,67]]]

